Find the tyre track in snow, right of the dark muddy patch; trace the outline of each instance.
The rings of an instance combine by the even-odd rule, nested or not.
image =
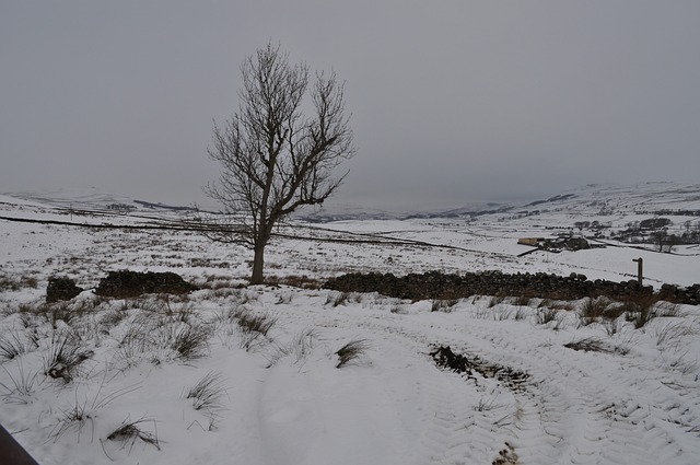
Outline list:
[[[682,444],[687,435],[679,434],[684,432],[682,428],[678,425],[661,428],[650,411],[658,399],[677,395],[665,386],[658,387],[665,391],[661,395],[650,392],[645,388],[650,382],[643,380],[642,374],[628,374],[635,371],[630,370],[629,363],[621,363],[620,370],[615,371],[608,371],[608,363],[585,362],[573,367],[567,364],[572,360],[571,353],[565,352],[568,349],[533,345],[532,340],[518,344],[516,334],[486,332],[480,326],[479,321],[470,321],[459,332],[469,336],[470,345],[475,340],[481,341],[479,353],[489,351],[500,363],[515,364],[533,375],[527,383],[529,402],[524,403],[525,414],[528,406],[536,407],[542,431],[559,438],[553,444],[559,456],[548,462],[537,444],[551,439],[527,438],[533,428],[522,428],[524,431],[515,440],[522,463],[657,464],[670,457],[678,461],[684,450],[689,449]],[[485,347],[483,342],[491,347]],[[583,353],[580,357],[621,356]],[[557,373],[552,367],[561,371]],[[618,404],[621,411],[609,407]],[[677,441],[678,437],[685,440]],[[696,463],[696,457],[688,457],[688,463]]]

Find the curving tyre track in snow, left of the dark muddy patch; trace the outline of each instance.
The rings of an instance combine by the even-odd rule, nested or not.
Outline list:
[[[513,415],[512,405],[492,406],[488,410],[477,411],[474,399],[479,398],[475,390],[480,386],[465,383],[453,372],[435,367],[427,353],[428,340],[409,337],[399,327],[376,325],[369,321],[358,322],[342,312],[316,312],[311,318],[327,332],[336,329],[362,330],[362,337],[370,337],[373,358],[386,357],[387,360],[405,360],[415,385],[418,405],[411,406],[420,411],[420,425],[416,431],[413,450],[405,463],[425,464],[471,464],[491,463],[508,438],[508,427],[494,429],[499,418]],[[390,314],[389,314],[390,315]],[[300,322],[307,318],[301,315],[279,312],[280,317],[291,317]],[[308,316],[308,313],[306,313]],[[406,373],[404,373],[405,375]],[[487,393],[483,393],[488,396]],[[512,398],[510,398],[512,400]]]

